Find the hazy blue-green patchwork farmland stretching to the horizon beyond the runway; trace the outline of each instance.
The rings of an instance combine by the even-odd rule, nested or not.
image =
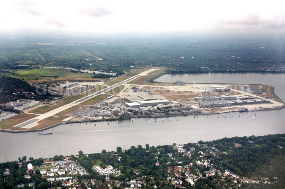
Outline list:
[[[71,42],[65,35],[57,39],[41,35],[16,37],[13,40],[0,38],[0,63],[112,72],[168,67],[174,69],[169,72],[205,73],[265,72],[262,68],[283,65],[285,59],[284,49],[280,48],[284,44],[277,38],[78,36]],[[29,43],[25,43],[27,40]]]

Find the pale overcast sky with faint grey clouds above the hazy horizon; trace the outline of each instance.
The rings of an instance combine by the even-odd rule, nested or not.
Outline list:
[[[3,32],[284,32],[283,1],[3,0]]]

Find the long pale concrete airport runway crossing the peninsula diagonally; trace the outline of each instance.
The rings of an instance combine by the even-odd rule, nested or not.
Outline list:
[[[54,109],[54,110],[51,110],[51,111],[49,111],[49,112],[46,112],[46,113],[44,113],[44,114],[42,114],[42,115],[40,115],[40,116],[34,117],[34,118],[32,118],[32,119],[29,119],[29,120],[27,120],[27,121],[24,121],[24,122],[22,122],[22,123],[19,123],[19,124],[17,124],[17,125],[14,125],[13,127],[21,127],[21,128],[30,129],[30,128],[32,128],[32,127],[38,125],[38,121],[41,121],[41,120],[43,120],[43,119],[46,119],[46,118],[48,118],[48,117],[50,117],[50,116],[54,116],[55,114],[58,114],[59,112],[62,112],[62,111],[66,110],[66,109],[68,109],[68,108],[70,108],[70,107],[72,107],[72,106],[76,106],[76,105],[80,104],[81,102],[84,102],[84,101],[86,101],[86,100],[89,100],[90,98],[93,98],[94,96],[97,96],[97,95],[100,95],[100,94],[102,94],[102,93],[105,93],[106,91],[112,90],[112,89],[116,88],[116,87],[119,86],[119,85],[122,85],[122,84],[124,84],[124,83],[127,83],[127,82],[129,82],[129,81],[131,81],[131,80],[133,80],[133,79],[136,79],[137,77],[140,77],[140,76],[142,76],[142,75],[148,74],[149,72],[152,72],[152,71],[154,71],[154,70],[157,70],[157,69],[150,69],[150,70],[147,70],[147,71],[145,71],[145,72],[143,72],[143,73],[141,73],[141,74],[135,75],[135,76],[133,76],[133,77],[131,77],[131,78],[129,78],[129,79],[126,79],[126,80],[124,80],[124,81],[121,81],[121,82],[119,82],[119,83],[116,83],[116,84],[114,84],[114,85],[112,85],[112,86],[110,86],[110,87],[107,87],[106,89],[103,89],[103,90],[101,90],[101,91],[95,92],[95,93],[93,93],[93,94],[91,94],[91,95],[88,95],[88,96],[85,96],[85,97],[80,98],[80,99],[78,99],[78,100],[75,100],[75,101],[73,101],[73,102],[71,102],[71,103],[69,103],[69,104],[66,104],[66,105],[64,105],[64,106],[61,106],[61,107],[56,108],[56,109]]]

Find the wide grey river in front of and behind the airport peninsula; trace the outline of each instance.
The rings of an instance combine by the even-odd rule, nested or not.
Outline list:
[[[285,74],[162,75],[155,81],[265,84],[274,86],[276,95],[285,100]],[[115,151],[117,146],[128,149],[146,143],[157,146],[285,133],[284,115],[285,108],[265,112],[106,121],[97,122],[96,126],[95,123],[65,124],[44,131],[54,133],[52,135],[0,132],[0,162],[17,160],[22,156],[49,158],[60,154],[75,155],[79,150],[84,153],[101,152],[103,149]]]

